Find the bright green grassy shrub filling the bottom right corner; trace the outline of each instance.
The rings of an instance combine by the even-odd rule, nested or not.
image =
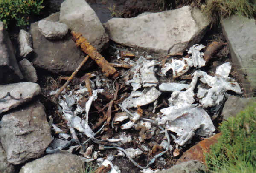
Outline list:
[[[210,173],[254,173],[256,167],[256,102],[222,122],[222,136],[206,154]]]

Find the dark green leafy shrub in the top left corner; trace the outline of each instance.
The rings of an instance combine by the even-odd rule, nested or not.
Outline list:
[[[30,14],[39,14],[43,0],[0,0],[0,20],[6,24],[16,20],[17,26],[29,24]]]

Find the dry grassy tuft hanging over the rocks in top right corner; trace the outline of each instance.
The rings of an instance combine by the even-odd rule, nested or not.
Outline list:
[[[256,0],[207,0],[203,9],[213,24],[233,14],[253,18],[256,14]]]

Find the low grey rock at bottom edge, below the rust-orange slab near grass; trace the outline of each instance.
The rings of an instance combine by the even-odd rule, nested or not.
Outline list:
[[[176,164],[170,169],[162,170],[157,173],[204,173],[206,172],[206,167],[204,164],[198,162],[197,160],[189,160],[187,162],[182,162],[181,164]]]

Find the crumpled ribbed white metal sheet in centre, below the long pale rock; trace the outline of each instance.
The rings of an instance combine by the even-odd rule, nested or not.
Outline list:
[[[134,73],[133,79],[125,82],[126,85],[130,85],[133,87],[133,90],[136,91],[141,86],[143,87],[151,87],[157,86],[157,78],[154,75],[154,66],[156,65],[155,60],[145,60],[145,58],[141,57],[141,60],[144,62],[141,65],[137,65],[131,72]],[[137,63],[140,63],[139,59]]]

